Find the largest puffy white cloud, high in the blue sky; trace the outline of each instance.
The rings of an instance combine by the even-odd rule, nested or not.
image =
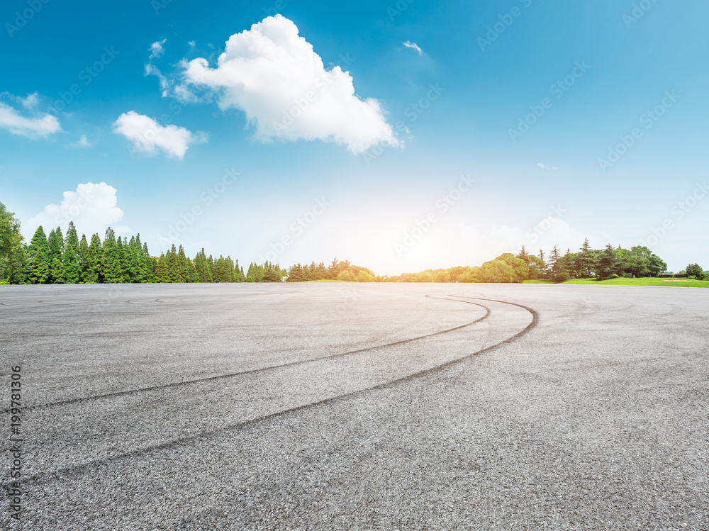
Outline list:
[[[360,99],[340,67],[325,70],[313,45],[281,15],[231,35],[216,67],[200,57],[184,63],[175,94],[194,99],[189,85],[213,91],[222,110],[245,111],[259,140],[323,140],[354,153],[401,145],[376,99]]]

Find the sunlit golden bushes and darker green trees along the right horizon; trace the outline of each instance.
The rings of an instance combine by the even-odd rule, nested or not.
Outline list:
[[[667,264],[647,247],[608,244],[596,250],[584,241],[579,252],[567,249],[564,254],[555,246],[548,255],[540,250],[539,255],[530,255],[525,246],[517,255],[510,252],[498,256],[477,267],[452,267],[428,269],[414,274],[401,274],[386,279],[388,282],[523,282],[525,280],[552,280],[564,282],[570,279],[598,280],[640,278],[658,276],[667,269]]]

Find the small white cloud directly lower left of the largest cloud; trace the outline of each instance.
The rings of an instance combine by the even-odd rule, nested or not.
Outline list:
[[[135,111],[121,114],[113,123],[113,132],[121,134],[133,142],[136,150],[154,153],[156,147],[167,153],[170,157],[180,160],[184,157],[187,148],[192,144],[206,142],[206,133],[191,133],[184,127],[177,125],[160,125],[149,116],[138,114]]]

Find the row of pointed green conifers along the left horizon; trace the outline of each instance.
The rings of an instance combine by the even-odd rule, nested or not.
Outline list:
[[[40,226],[29,245],[21,245],[21,237],[16,235],[11,239],[6,238],[9,243],[0,248],[0,281],[4,284],[279,282],[286,274],[278,264],[269,262],[250,264],[245,273],[238,260],[215,259],[204,250],[190,259],[182,245],[179,249],[172,245],[169,252],[153,257],[140,234],[128,240],[116,236],[110,227],[103,241],[94,234],[89,242],[86,235],[79,239],[73,222],[66,236],[60,227],[46,235]]]

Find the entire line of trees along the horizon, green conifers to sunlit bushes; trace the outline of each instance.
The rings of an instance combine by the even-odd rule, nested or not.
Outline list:
[[[584,241],[578,252],[565,253],[554,247],[548,255],[530,254],[523,246],[517,255],[504,253],[481,266],[427,269],[398,276],[376,276],[371,269],[348,260],[333,259],[308,265],[294,264],[286,271],[278,264],[249,264],[247,271],[238,260],[206,256],[201,250],[194,258],[186,256],[182,245],[160,257],[153,257],[140,234],[117,236],[110,227],[104,240],[98,234],[91,240],[79,239],[74,223],[67,234],[57,227],[49,235],[39,227],[29,245],[23,243],[20,224],[0,203],[0,284],[140,284],[150,282],[522,282],[525,280],[615,279],[659,276],[667,264],[647,247],[606,245],[596,250]],[[698,264],[690,264],[683,276],[705,279]]]

